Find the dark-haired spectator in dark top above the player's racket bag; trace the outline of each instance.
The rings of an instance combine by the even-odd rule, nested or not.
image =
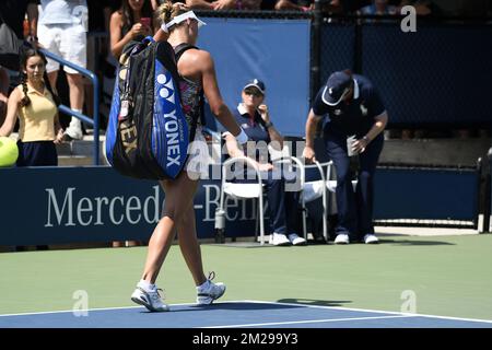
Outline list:
[[[121,8],[113,12],[109,20],[110,49],[116,59],[121,56],[125,45],[153,34],[152,18],[150,0],[121,1]]]

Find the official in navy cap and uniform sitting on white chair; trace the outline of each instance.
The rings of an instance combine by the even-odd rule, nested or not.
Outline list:
[[[265,100],[265,84],[257,79],[248,82],[243,89],[242,100],[243,102],[239,103],[233,114],[237,124],[248,136],[248,139],[255,142],[263,141],[265,145],[274,141],[272,143],[277,143],[282,149],[283,138],[271,122],[267,105],[262,104]],[[243,156],[247,154],[245,150],[239,149],[237,141],[230,132],[225,132],[224,138],[227,153],[231,156]],[[260,147],[258,143],[257,145]],[[306,240],[295,233],[298,192],[285,190],[286,179],[283,174],[282,176],[279,175],[279,170],[274,168],[269,156],[268,160],[260,160],[260,154],[268,154],[268,150],[259,150],[257,153],[259,154],[256,154],[256,159],[254,160],[257,162],[257,166],[261,172],[270,210],[270,228],[272,232],[270,243],[273,245],[306,244]],[[278,176],[273,176],[274,171]],[[237,182],[247,183],[248,180]]]

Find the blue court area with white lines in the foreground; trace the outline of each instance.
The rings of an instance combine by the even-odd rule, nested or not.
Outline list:
[[[367,310],[271,303],[220,302],[0,315],[0,328],[492,328],[492,320]]]

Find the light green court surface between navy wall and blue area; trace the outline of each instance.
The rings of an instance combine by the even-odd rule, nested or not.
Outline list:
[[[258,300],[492,319],[492,235],[380,235],[379,245],[242,247],[202,244],[206,271],[224,301]],[[147,247],[0,254],[0,314],[133,306]],[[195,285],[171,248],[161,277],[166,302],[195,302]],[[410,299],[409,299],[410,296]],[[221,299],[222,300],[222,299]],[[403,305],[403,308],[402,308]]]

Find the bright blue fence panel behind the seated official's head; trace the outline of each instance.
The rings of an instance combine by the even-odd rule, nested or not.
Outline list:
[[[227,106],[236,108],[246,81],[258,78],[267,85],[266,103],[276,127],[283,135],[304,135],[309,108],[309,21],[207,18],[204,22],[198,46],[214,58]],[[208,120],[213,118],[209,115]]]

